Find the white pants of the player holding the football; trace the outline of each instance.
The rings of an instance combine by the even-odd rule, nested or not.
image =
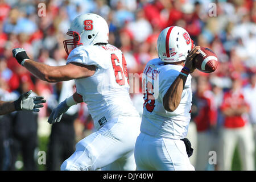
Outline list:
[[[135,144],[135,162],[138,171],[195,170],[189,162],[182,140],[139,134]]]

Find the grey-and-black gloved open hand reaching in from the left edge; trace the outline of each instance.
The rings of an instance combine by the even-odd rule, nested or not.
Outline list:
[[[30,110],[34,112],[39,112],[40,107],[43,107],[42,103],[45,103],[46,100],[43,100],[42,96],[28,97],[32,93],[32,90],[23,93],[18,100],[14,101],[15,110]]]

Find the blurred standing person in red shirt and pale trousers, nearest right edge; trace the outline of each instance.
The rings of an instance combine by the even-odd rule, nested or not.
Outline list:
[[[221,130],[218,167],[220,170],[231,170],[238,143],[242,170],[254,170],[253,131],[247,118],[250,108],[241,92],[241,76],[233,72],[231,78],[232,88],[224,94],[220,108],[225,119]]]

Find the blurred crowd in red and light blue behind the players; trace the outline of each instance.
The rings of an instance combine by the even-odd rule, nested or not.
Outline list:
[[[39,6],[40,3],[45,6]],[[26,124],[26,120],[47,118],[75,90],[72,81],[50,84],[35,78],[16,62],[12,49],[22,47],[31,59],[41,63],[65,64],[63,40],[69,39],[66,32],[73,18],[82,13],[96,13],[106,19],[109,43],[122,50],[129,73],[142,73],[147,61],[158,57],[156,40],[168,26],[185,28],[196,45],[212,49],[218,56],[217,70],[210,74],[192,73],[194,97],[188,138],[195,153],[191,162],[196,169],[209,169],[209,152],[216,151],[213,169],[230,170],[238,144],[242,169],[254,170],[256,1],[253,0],[0,0],[0,99],[14,100],[31,89],[47,100],[34,118],[26,112],[0,118],[3,121],[0,169],[15,169],[18,152],[24,153],[24,169],[36,169],[33,152],[38,146],[38,126],[34,125],[36,122]],[[142,113],[143,95],[131,94],[131,97]],[[52,165],[48,169],[59,169],[61,161],[72,154],[75,135],[81,133],[81,126],[82,130],[93,130],[86,104],[73,107],[63,120],[52,127],[54,132],[48,144],[51,157],[47,162]],[[19,144],[15,145],[15,140]],[[28,155],[32,155],[31,159]],[[58,161],[53,164],[54,159]]]

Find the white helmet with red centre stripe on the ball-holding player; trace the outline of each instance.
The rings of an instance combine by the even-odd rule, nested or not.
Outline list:
[[[185,60],[192,47],[188,32],[178,26],[164,28],[158,36],[158,56],[167,63]]]

